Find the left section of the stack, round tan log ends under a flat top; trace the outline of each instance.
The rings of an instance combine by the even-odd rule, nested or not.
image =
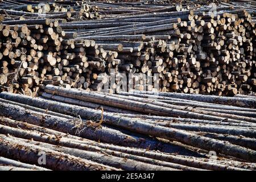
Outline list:
[[[92,71],[104,63],[95,42],[69,40],[76,34],[58,24],[49,19],[2,22],[1,90],[38,96],[47,84],[87,88],[97,78]]]

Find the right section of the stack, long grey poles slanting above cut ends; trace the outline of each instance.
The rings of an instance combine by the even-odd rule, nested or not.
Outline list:
[[[217,7],[215,15],[208,11],[128,14],[60,26],[76,28],[79,38],[118,52],[119,72],[159,73],[162,92],[224,96],[255,92],[252,16],[231,6]]]

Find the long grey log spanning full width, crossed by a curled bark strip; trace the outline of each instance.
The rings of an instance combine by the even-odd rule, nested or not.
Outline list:
[[[30,98],[27,96],[3,92],[0,94],[0,97],[22,102],[23,104],[24,102],[26,102],[26,104],[43,107],[44,109],[49,109],[52,111],[59,111],[60,113],[64,113],[65,110],[68,110],[70,113],[79,114],[82,118],[86,119],[94,118],[94,120],[98,120],[101,118],[100,111],[85,109],[84,107],[80,106],[60,104],[59,102],[42,100],[41,98]],[[148,123],[144,123],[140,119],[121,117],[118,114],[111,113],[105,114],[104,122],[108,123],[109,125],[122,127],[124,129],[144,135],[151,135],[155,137],[165,138],[168,140],[176,140],[177,142],[203,148],[204,150],[215,150],[217,152],[220,152],[221,154],[234,156],[236,158],[245,159],[251,162],[255,162],[256,160],[256,151],[236,146],[228,142],[222,142],[216,139],[201,137],[200,135],[192,134],[184,130],[151,125]]]

